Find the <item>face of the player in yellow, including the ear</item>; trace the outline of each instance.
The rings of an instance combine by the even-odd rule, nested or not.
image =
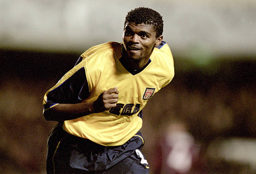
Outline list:
[[[123,46],[126,56],[130,59],[148,60],[154,46],[158,46],[163,36],[156,38],[153,26],[144,23],[136,24],[128,22],[123,32]]]

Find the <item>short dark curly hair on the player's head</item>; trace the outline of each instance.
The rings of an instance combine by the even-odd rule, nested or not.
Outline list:
[[[151,8],[139,7],[129,11],[125,17],[124,27],[128,22],[134,22],[136,24],[145,23],[146,25],[152,24],[156,31],[156,38],[161,36],[163,33],[164,21],[162,16]]]

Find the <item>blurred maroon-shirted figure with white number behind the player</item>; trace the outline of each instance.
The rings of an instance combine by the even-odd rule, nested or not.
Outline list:
[[[191,174],[200,172],[200,146],[187,131],[184,123],[171,123],[164,127],[156,139],[153,157],[154,174]]]

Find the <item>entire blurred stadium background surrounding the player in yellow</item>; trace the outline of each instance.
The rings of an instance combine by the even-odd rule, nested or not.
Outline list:
[[[139,6],[163,15],[175,67],[143,110],[150,173],[256,173],[255,0],[0,0],[0,173],[46,174],[44,93]]]

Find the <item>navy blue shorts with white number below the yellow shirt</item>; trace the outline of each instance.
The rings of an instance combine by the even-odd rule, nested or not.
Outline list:
[[[101,146],[57,124],[47,142],[47,174],[149,174],[138,132],[121,146]]]

